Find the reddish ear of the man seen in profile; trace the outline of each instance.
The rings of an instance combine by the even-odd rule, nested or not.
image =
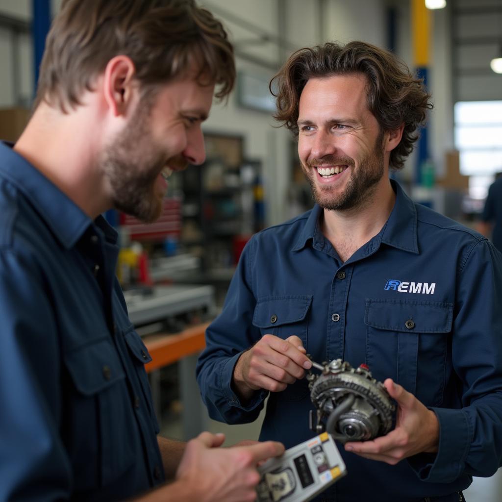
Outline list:
[[[103,97],[113,116],[123,115],[131,106],[137,87],[133,85],[136,68],[128,56],[115,56],[104,70]]]

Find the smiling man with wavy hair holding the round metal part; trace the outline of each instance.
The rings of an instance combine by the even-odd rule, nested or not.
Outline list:
[[[348,475],[319,499],[463,500],[502,458],[502,261],[389,178],[430,96],[363,42],[301,49],[276,79],[316,204],[243,250],[197,367],[209,413],[250,422],[268,396],[261,439],[291,447],[313,434],[306,354],[365,363],[396,401],[395,428],[347,442]]]

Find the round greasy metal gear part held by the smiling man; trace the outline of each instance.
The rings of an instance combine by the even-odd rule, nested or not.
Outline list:
[[[307,374],[310,399],[310,429],[328,432],[341,443],[367,441],[387,434],[393,424],[395,406],[381,382],[371,376],[368,366],[353,368],[348,362],[333,359],[313,363],[321,374]]]

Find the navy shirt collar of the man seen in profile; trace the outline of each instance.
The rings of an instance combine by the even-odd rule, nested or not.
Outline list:
[[[26,195],[63,246],[73,247],[92,224],[91,218],[12,147],[0,142],[0,177]],[[104,218],[98,217],[96,224],[107,240],[116,242],[116,232]]]

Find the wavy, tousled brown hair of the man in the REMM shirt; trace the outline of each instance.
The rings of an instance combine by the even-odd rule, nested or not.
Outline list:
[[[423,80],[413,76],[406,64],[389,51],[365,42],[344,46],[328,42],[296,51],[271,81],[271,92],[277,98],[274,117],[298,135],[298,104],[307,81],[349,73],[366,75],[368,108],[382,131],[394,131],[404,123],[403,138],[390,159],[394,169],[401,169],[432,103]],[[275,83],[277,93],[272,90]]]

